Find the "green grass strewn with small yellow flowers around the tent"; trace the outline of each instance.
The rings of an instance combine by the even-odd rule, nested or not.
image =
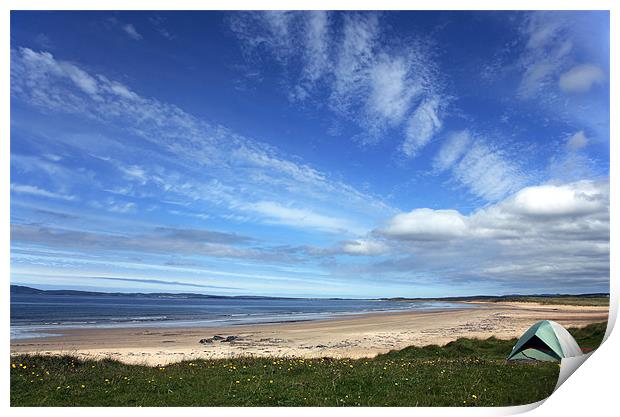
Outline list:
[[[594,344],[605,324],[570,330],[580,344]],[[16,356],[11,405],[505,406],[546,398],[558,364],[506,362],[515,342],[459,339],[374,359],[238,358],[164,368]]]

